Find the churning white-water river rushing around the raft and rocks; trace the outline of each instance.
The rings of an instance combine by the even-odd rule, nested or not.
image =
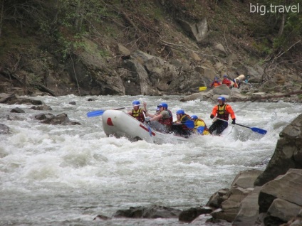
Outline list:
[[[177,219],[93,218],[137,206],[184,210],[206,205],[217,190],[229,188],[240,171],[264,170],[278,134],[302,112],[296,103],[230,102],[237,123],[267,134],[234,126],[224,136],[158,145],[107,137],[102,117],[88,118],[86,113],[126,107],[135,99],[155,112],[157,104],[167,102],[172,112],[197,114],[209,127],[217,102],[179,102],[180,96],[31,98],[50,106],[49,113],[66,113],[80,125],[41,124],[33,117],[46,111],[0,104],[0,122],[12,131],[0,135],[0,225],[183,225]],[[76,104],[69,104],[72,101]],[[8,121],[8,114],[16,114],[10,113],[14,107],[25,113],[18,114],[20,120]]]

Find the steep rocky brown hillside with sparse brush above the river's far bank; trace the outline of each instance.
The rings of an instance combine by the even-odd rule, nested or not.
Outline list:
[[[4,1],[0,90],[187,94],[209,85],[215,75],[234,77],[252,70],[262,73],[254,80],[257,85],[278,82],[280,77],[283,85],[300,80],[301,33],[293,29],[274,49],[281,14],[274,20],[277,15],[251,13],[256,5],[256,1]],[[301,14],[291,16],[301,19]],[[200,21],[207,22],[207,33],[197,40],[184,23],[191,29]],[[172,66],[158,72],[158,62],[151,67],[140,57],[129,64],[137,50]],[[146,75],[140,74],[137,64]]]

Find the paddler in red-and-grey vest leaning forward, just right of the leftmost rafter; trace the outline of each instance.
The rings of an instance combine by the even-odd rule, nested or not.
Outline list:
[[[162,133],[170,133],[173,124],[172,112],[168,109],[168,104],[162,102],[157,105],[160,108],[160,112],[157,114],[150,114],[147,112],[147,103],[144,103],[145,107],[145,123],[149,124],[152,129],[160,131]]]

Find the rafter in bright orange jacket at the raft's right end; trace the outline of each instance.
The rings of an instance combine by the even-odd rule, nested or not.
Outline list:
[[[210,115],[211,119],[214,119],[214,117],[216,117],[217,120],[213,122],[211,127],[209,127],[209,133],[213,134],[213,132],[216,130],[216,134],[220,135],[222,134],[222,131],[224,131],[224,129],[228,127],[228,122],[226,121],[229,120],[229,114],[231,114],[231,124],[236,124],[236,117],[231,106],[225,103],[226,99],[224,97],[218,97],[218,102],[219,104],[214,106]],[[219,119],[223,119],[226,121],[222,121]]]

